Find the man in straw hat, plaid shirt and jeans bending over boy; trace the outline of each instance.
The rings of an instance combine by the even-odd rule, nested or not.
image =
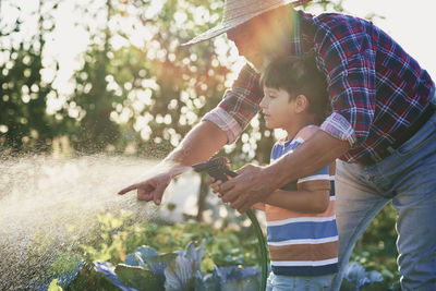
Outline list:
[[[342,14],[312,16],[289,0],[228,0],[220,25],[187,45],[227,33],[251,63],[220,105],[206,114],[164,163],[167,172],[133,184],[138,199],[160,204],[181,166],[233,143],[258,111],[258,72],[277,54],[313,50],[326,74],[332,113],[314,136],[270,166],[247,166],[223,183],[225,202],[243,213],[275,190],[337,162],[338,290],[354,243],[392,201],[398,211],[403,290],[436,290],[435,84],[427,72],[372,23]]]

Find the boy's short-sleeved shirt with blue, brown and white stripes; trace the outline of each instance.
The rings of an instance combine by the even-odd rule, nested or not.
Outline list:
[[[318,130],[315,125],[302,129],[294,138],[279,141],[272,148],[271,162],[293,150]],[[326,166],[311,175],[299,179],[296,190],[305,183],[330,184],[330,203],[323,214],[304,214],[265,205],[267,241],[271,269],[276,275],[322,276],[338,270],[338,230],[335,216],[335,169]],[[310,186],[310,185],[308,185]],[[292,183],[286,190],[292,189]]]

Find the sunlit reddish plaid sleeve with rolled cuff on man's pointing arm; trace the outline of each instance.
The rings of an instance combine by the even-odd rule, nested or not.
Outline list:
[[[259,110],[259,102],[264,94],[258,82],[259,74],[245,64],[232,88],[225,93],[218,107],[203,118],[203,120],[214,122],[226,132],[228,144],[237,141]]]

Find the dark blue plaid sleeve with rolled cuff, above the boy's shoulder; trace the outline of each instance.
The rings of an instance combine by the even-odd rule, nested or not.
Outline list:
[[[317,63],[327,75],[332,114],[320,129],[351,145],[366,141],[375,112],[375,52],[359,23],[329,17],[315,36]]]

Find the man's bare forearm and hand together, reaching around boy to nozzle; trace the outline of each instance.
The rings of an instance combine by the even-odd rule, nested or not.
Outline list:
[[[317,131],[310,140],[266,167],[247,165],[238,177],[217,186],[223,202],[244,213],[255,203],[264,202],[275,190],[290,181],[310,175],[350,149],[348,141]]]

